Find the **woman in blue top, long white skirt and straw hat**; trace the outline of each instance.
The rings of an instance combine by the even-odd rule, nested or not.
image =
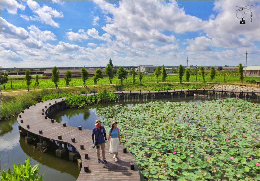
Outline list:
[[[121,139],[120,139],[120,131],[117,128],[117,121],[112,122],[112,128],[109,129],[109,135],[107,141],[111,138],[110,146],[109,146],[109,154],[114,154],[113,158],[115,158],[115,161],[117,162],[117,155],[118,155],[118,147],[121,145]]]

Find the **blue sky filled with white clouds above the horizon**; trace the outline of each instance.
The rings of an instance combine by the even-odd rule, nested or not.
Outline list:
[[[237,16],[246,12],[236,6],[247,5],[241,25]],[[260,64],[259,1],[1,0],[0,7],[3,68],[97,67],[110,58],[117,66],[186,66],[187,56],[188,65],[237,66],[246,51],[247,65]]]

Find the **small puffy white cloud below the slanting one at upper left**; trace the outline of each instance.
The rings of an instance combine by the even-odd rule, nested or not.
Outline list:
[[[35,25],[31,25],[30,27],[27,27],[30,29],[30,35],[34,37],[35,39],[40,39],[42,41],[47,40],[56,40],[56,36],[51,31],[41,31],[39,28],[37,28]]]

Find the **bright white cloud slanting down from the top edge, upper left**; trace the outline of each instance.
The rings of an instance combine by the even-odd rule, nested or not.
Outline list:
[[[27,1],[27,5],[31,10],[33,10],[34,13],[37,14],[37,17],[35,19],[39,19],[42,23],[45,23],[47,25],[59,27],[59,23],[56,23],[52,18],[62,18],[62,12],[58,12],[57,10],[46,5],[40,7],[40,5],[36,1]],[[22,17],[24,17],[25,19],[29,19],[26,16]]]

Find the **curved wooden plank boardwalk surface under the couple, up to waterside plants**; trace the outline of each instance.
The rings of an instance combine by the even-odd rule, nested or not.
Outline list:
[[[75,147],[82,160],[82,168],[77,180],[140,180],[140,174],[133,155],[128,150],[126,153],[123,153],[124,145],[119,145],[118,162],[115,162],[113,156],[108,154],[109,143],[107,143],[105,151],[108,163],[105,164],[102,161],[98,163],[96,148],[92,148],[92,130],[79,130],[78,128],[67,125],[64,127],[57,122],[51,123],[51,119],[49,118],[45,119],[45,111],[47,110],[45,106],[49,108],[49,103],[51,103],[51,105],[57,104],[55,101],[59,103],[62,101],[62,98],[44,101],[35,106],[30,106],[29,109],[23,111],[24,113],[19,114],[17,118],[18,123],[23,129],[30,133],[60,141],[61,143],[69,143]],[[42,109],[44,109],[44,115],[42,115]],[[23,123],[21,123],[21,120],[23,120]],[[27,128],[27,125],[29,125],[29,128]],[[39,134],[39,130],[42,130],[42,134]],[[62,136],[62,139],[58,139],[58,136]],[[71,138],[75,138],[74,143]],[[84,148],[80,149],[80,145],[83,145]],[[88,154],[88,159],[85,159],[85,154]],[[100,155],[102,160],[101,148]],[[130,168],[131,163],[134,164],[134,170]],[[84,167],[88,167],[89,171],[85,172]]]

